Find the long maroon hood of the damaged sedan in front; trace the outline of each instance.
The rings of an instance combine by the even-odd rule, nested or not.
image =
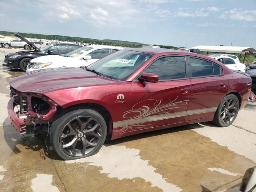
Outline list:
[[[54,90],[116,84],[112,80],[82,68],[52,68],[24,73],[10,80],[10,86],[20,92],[47,93]]]

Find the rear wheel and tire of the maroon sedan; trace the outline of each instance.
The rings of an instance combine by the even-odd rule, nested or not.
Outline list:
[[[214,114],[213,123],[220,127],[231,125],[239,110],[239,100],[234,94],[225,96]]]

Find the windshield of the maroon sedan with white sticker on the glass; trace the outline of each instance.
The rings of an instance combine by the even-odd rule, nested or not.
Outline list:
[[[120,50],[88,66],[89,70],[95,70],[107,78],[126,80],[134,71],[144,64],[153,55]]]

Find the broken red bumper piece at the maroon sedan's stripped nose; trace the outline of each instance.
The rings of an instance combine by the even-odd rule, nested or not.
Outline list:
[[[19,134],[25,134],[26,133],[26,125],[24,122],[16,116],[16,113],[13,110],[13,103],[14,103],[14,97],[12,97],[7,106],[8,110],[8,116],[10,119],[10,123],[12,127],[19,133]]]

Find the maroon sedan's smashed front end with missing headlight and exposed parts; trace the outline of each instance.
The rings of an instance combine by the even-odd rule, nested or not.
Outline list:
[[[24,93],[10,88],[8,115],[12,127],[20,134],[30,134],[37,126],[51,122],[58,104],[36,93]]]

